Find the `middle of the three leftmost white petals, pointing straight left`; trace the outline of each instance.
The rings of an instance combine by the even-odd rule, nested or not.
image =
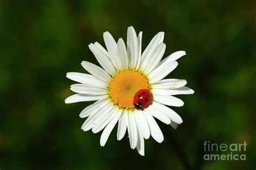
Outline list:
[[[70,87],[72,91],[80,94],[86,94],[86,95],[98,96],[98,95],[106,95],[108,93],[107,89],[97,87],[93,84],[72,84]]]

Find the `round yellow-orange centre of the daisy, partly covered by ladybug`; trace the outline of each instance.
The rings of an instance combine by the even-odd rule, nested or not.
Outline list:
[[[147,77],[137,70],[127,69],[112,76],[109,95],[119,108],[133,109],[133,97],[140,89],[149,89]]]

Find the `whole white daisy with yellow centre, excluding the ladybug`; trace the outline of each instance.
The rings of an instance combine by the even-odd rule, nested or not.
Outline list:
[[[158,143],[164,140],[156,120],[177,128],[181,117],[166,105],[181,107],[184,102],[173,95],[193,94],[185,87],[186,80],[164,79],[177,66],[176,61],[186,55],[185,51],[174,52],[163,58],[165,52],[164,32],[159,32],[142,53],[142,32],[137,36],[132,26],[127,30],[127,47],[124,40],[116,42],[109,32],[103,34],[106,49],[98,42],[89,48],[99,65],[83,61],[82,66],[90,74],[70,72],[69,79],[75,95],[66,98],[65,103],[96,101],[80,113],[86,118],[82,130],[102,131],[100,145],[104,146],[111,131],[118,122],[117,140],[128,132],[130,146],[144,155],[144,139],[150,136]],[[141,89],[150,91],[151,103],[138,110],[133,104],[134,94]]]

